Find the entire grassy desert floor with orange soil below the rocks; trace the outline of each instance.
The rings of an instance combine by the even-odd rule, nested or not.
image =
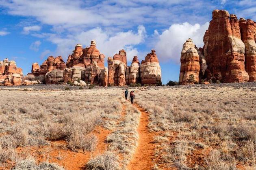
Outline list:
[[[0,169],[256,169],[255,82],[0,86],[0,99]]]

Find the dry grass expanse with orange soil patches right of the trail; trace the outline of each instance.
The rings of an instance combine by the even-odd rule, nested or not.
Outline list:
[[[256,93],[251,88],[148,87],[136,93],[135,101],[150,112],[150,130],[160,134],[155,167],[256,167]]]

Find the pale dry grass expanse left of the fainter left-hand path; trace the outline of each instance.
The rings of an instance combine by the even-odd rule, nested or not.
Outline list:
[[[65,140],[75,152],[93,151],[98,142],[92,134],[95,127],[113,129],[120,118],[119,97],[115,89],[1,91],[0,167],[11,164],[23,169],[26,157],[20,156],[17,147],[49,146],[53,140]],[[51,166],[27,162],[32,169]]]

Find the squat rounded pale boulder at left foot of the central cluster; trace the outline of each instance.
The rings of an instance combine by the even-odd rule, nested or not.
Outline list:
[[[45,75],[46,84],[61,84],[64,82],[63,70],[52,70]]]

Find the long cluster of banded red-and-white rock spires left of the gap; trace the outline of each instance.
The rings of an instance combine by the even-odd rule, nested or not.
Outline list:
[[[95,40],[91,41],[90,47],[83,48],[81,44],[77,44],[66,63],[61,56],[50,56],[41,66],[33,63],[31,73],[22,77],[22,84],[62,84],[78,80],[101,86],[162,83],[161,68],[154,50],[141,64],[135,56],[131,66],[127,66],[124,49],[113,58],[108,57],[107,67],[104,66],[104,58],[105,55],[97,49]]]

